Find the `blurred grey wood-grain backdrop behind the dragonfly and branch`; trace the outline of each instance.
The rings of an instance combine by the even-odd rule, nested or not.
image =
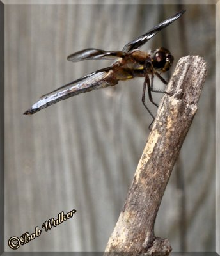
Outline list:
[[[10,237],[76,209],[72,219],[19,251],[104,250],[149,133],[143,79],[78,95],[33,116],[22,113],[40,95],[111,64],[70,63],[69,54],[120,50],[184,8],[181,19],[142,47],[168,48],[174,67],[189,54],[208,66],[155,231],[173,251],[215,251],[215,6],[136,3],[5,6],[6,248]],[[161,86],[157,79],[155,86]],[[158,93],[154,99],[159,102]]]

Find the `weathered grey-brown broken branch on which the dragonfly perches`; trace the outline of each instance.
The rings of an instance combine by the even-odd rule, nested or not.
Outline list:
[[[167,239],[155,237],[162,196],[189,127],[207,72],[199,56],[181,58],[162,97],[157,117],[125,205],[107,243],[106,255],[169,255]]]

